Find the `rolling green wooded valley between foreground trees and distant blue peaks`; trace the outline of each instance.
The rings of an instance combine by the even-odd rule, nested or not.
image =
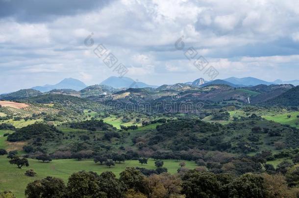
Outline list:
[[[0,172],[0,189],[22,198],[27,183],[46,176],[68,182],[74,172],[111,171],[118,178],[126,167],[145,176],[194,169],[237,178],[297,167],[299,104],[293,98],[298,88],[214,83],[23,89],[1,95],[0,149],[11,159],[25,157],[29,166],[19,169],[0,156],[6,170]],[[155,167],[159,160],[161,169]],[[36,175],[26,176],[31,169]]]

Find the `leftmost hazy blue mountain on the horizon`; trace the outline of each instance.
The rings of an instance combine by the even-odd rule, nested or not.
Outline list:
[[[33,87],[32,89],[41,91],[41,92],[47,92],[52,89],[74,89],[76,91],[79,91],[83,88],[86,88],[87,86],[82,82],[74,78],[66,78],[63,81],[55,84],[55,85],[45,85],[45,86],[37,86]]]

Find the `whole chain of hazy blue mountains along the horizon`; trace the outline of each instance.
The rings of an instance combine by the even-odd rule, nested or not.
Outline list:
[[[99,94],[109,94],[111,92],[117,91],[117,89],[127,89],[127,88],[158,88],[159,89],[188,89],[190,87],[205,87],[205,86],[210,86],[210,85],[228,85],[233,88],[241,88],[241,87],[253,87],[257,85],[281,85],[281,84],[291,84],[294,86],[299,85],[299,80],[293,80],[293,81],[282,81],[282,80],[275,80],[274,82],[267,82],[261,79],[257,78],[252,78],[252,77],[246,77],[246,78],[236,78],[236,77],[231,77],[231,78],[226,78],[224,80],[217,79],[214,81],[206,81],[203,78],[198,78],[194,81],[190,81],[187,83],[177,83],[177,84],[172,84],[172,85],[162,85],[162,86],[154,86],[154,85],[148,85],[143,82],[138,82],[134,81],[131,78],[128,77],[116,77],[116,76],[111,76],[107,78],[106,80],[102,81],[99,85],[96,85],[94,87],[90,86],[88,89],[83,90],[87,91],[86,96],[92,96],[92,95],[99,95]],[[105,87],[106,86],[106,87]],[[61,82],[55,84],[55,85],[45,85],[45,86],[37,86],[33,87],[30,90],[28,89],[23,89],[17,92],[17,95],[22,95],[24,97],[31,97],[33,95],[38,95],[38,92],[34,92],[33,90],[40,91],[42,93],[46,93],[49,91],[55,92],[55,93],[67,93],[69,94],[72,92],[71,90],[67,89],[72,89],[73,91],[80,91],[84,88],[87,88],[88,86],[85,85],[82,81],[74,79],[74,78],[66,78],[62,80]],[[186,87],[186,88],[184,88]],[[54,90],[55,89],[55,90]],[[113,90],[115,89],[115,90]],[[82,93],[75,93],[72,92],[74,95],[82,95]],[[2,94],[4,95],[4,94]],[[9,93],[6,94],[6,96],[9,96]],[[9,96],[9,98],[11,98]],[[12,96],[13,98],[13,96]]]

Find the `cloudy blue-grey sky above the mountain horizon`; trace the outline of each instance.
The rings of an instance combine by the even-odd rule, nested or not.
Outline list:
[[[299,1],[0,0],[0,93],[69,77],[211,80],[210,68],[217,79],[298,79]]]

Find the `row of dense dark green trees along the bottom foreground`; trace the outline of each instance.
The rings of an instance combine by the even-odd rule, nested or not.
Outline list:
[[[181,169],[175,175],[162,173],[144,176],[138,169],[129,167],[119,178],[109,171],[100,175],[81,171],[72,174],[66,184],[60,178],[48,176],[29,183],[25,189],[25,196],[27,198],[298,198],[299,189],[288,187],[286,178],[282,175],[247,173],[235,176],[197,169],[187,171]]]

